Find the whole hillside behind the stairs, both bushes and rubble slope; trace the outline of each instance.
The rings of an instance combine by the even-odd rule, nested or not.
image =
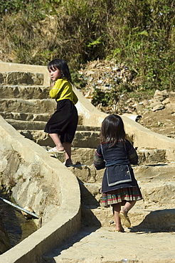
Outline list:
[[[173,0],[3,0],[0,14],[1,61],[63,58],[96,107],[139,114],[145,127],[174,137]],[[164,96],[154,110],[157,90]]]

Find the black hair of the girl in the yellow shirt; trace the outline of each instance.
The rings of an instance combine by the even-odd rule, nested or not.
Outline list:
[[[60,70],[63,78],[66,78],[69,82],[72,83],[72,78],[70,75],[68,64],[64,60],[55,59],[48,63],[48,70],[55,70],[55,68]]]

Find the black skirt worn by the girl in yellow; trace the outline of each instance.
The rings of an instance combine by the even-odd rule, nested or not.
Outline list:
[[[57,109],[49,119],[44,132],[48,134],[58,134],[60,141],[69,142],[73,141],[75,131],[78,125],[78,112],[70,100],[60,100],[57,103]]]

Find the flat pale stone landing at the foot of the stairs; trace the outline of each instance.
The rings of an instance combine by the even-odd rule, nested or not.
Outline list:
[[[47,263],[174,263],[174,232],[149,229],[113,232],[114,227],[82,227],[52,253]]]

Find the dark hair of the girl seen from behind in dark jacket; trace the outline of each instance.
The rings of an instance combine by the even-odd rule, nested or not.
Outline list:
[[[120,116],[111,114],[103,120],[100,132],[101,143],[111,142],[112,144],[110,147],[112,147],[118,140],[124,144],[125,137],[126,133],[124,131],[124,124]]]

